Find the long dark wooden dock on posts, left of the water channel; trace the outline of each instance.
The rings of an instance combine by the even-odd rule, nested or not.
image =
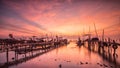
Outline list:
[[[1,43],[2,48],[1,52],[6,52],[6,63],[0,64],[0,68],[6,68],[12,65],[17,65],[19,63],[28,61],[32,58],[35,58],[39,55],[42,55],[46,52],[49,52],[57,47],[60,47],[64,44],[67,44],[66,39],[58,40],[58,41],[45,41],[45,42],[30,42],[30,43]],[[13,58],[13,61],[9,61],[9,51],[15,52],[15,57]],[[33,54],[33,52],[39,51],[37,54]],[[31,56],[26,56],[27,53],[32,53]],[[18,59],[18,54],[24,54],[24,58]]]

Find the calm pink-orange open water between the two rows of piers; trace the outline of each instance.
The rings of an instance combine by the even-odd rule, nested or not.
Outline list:
[[[117,50],[117,53],[120,55],[119,50]],[[1,63],[6,61],[4,54],[0,54]],[[10,54],[9,59],[12,61],[11,58],[14,57],[14,52]],[[120,62],[119,55],[117,57],[118,62]],[[24,57],[24,55],[19,55],[19,58],[21,57]],[[104,60],[97,53],[90,52],[83,46],[78,47],[75,42],[71,42],[67,46],[59,47],[10,68],[59,68],[60,64],[62,68],[105,68],[103,64],[107,65],[107,68],[115,68],[114,64]]]

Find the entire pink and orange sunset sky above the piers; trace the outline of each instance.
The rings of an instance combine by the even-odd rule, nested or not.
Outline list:
[[[94,32],[120,36],[119,0],[0,0],[0,38]]]

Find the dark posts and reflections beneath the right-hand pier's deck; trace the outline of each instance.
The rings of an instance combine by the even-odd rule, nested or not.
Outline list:
[[[112,44],[101,41],[86,41],[84,43],[86,43],[84,47],[86,47],[90,52],[97,53],[100,57],[102,57],[103,60],[114,64],[115,68],[120,67],[120,62],[117,61],[119,55],[116,53],[116,49],[119,47],[119,45],[115,44],[115,41],[113,41]],[[116,48],[114,48],[114,46]]]

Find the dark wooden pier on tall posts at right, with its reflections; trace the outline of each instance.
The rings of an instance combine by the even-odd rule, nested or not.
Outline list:
[[[110,38],[108,38],[107,41],[104,41],[104,36],[102,36],[102,40],[98,37],[91,38],[91,34],[85,34],[84,36],[87,36],[88,38],[81,40],[84,43],[82,46],[87,48],[90,52],[97,53],[104,60],[114,64],[116,68],[120,67],[120,62],[116,60],[118,57],[116,50],[120,46],[120,43],[117,43]],[[79,42],[79,40],[80,39],[78,38],[77,42]],[[80,46],[79,44],[77,45]]]

